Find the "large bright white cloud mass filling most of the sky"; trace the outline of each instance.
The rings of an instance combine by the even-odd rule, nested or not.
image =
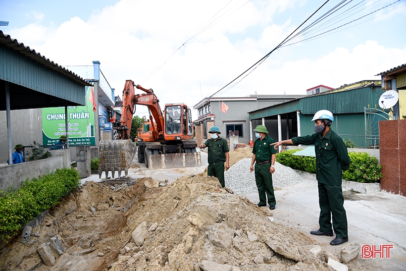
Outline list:
[[[184,102],[193,106],[202,94],[208,97],[224,87],[296,29],[295,14],[283,21],[275,21],[275,16],[306,3],[250,1],[171,56],[227,2],[122,0],[94,13],[88,21],[74,17],[56,28],[30,24],[11,34],[60,65],[101,61],[101,70],[116,94],[122,92],[125,80],[132,79],[154,89],[162,104]],[[236,1],[236,7],[245,2]],[[300,13],[300,17],[307,13]],[[345,35],[354,34],[347,31]],[[358,46],[338,47],[331,35],[317,43],[282,48],[221,96],[247,96],[255,91],[304,95],[306,89],[320,84],[336,88],[380,79],[374,75],[405,62],[401,59],[406,59],[406,47],[384,47],[378,38],[365,39]],[[305,52],[317,52],[317,46],[329,51],[309,58]]]

